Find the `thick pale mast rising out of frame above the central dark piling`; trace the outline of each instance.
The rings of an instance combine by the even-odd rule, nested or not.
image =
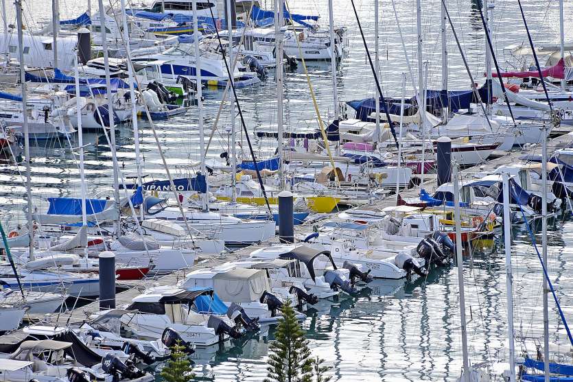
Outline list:
[[[332,5],[332,0],[329,0],[329,7]],[[283,13],[283,0],[274,0],[274,44],[275,51],[277,52],[274,58],[277,63],[277,129],[278,129],[278,144],[279,147],[279,180],[281,182],[281,189],[285,189],[285,177],[283,174],[283,32],[281,27],[284,24]],[[331,36],[332,40],[332,36]],[[336,65],[336,60],[334,65]],[[334,72],[333,72],[334,73]],[[333,74],[336,75],[336,74]],[[336,84],[336,77],[334,78]],[[336,88],[334,88],[334,99],[336,102]],[[336,118],[336,117],[335,117]]]

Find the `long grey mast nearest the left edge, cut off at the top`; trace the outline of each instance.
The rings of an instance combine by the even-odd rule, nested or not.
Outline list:
[[[18,60],[20,62],[20,82],[22,84],[22,128],[24,130],[24,155],[26,157],[26,198],[28,211],[28,236],[30,237],[30,261],[34,260],[34,219],[32,217],[32,176],[30,174],[30,132],[28,131],[28,110],[26,95],[26,73],[24,70],[24,36],[22,32],[22,0],[14,0],[16,5],[16,27],[18,28]],[[6,47],[8,51],[8,47]]]

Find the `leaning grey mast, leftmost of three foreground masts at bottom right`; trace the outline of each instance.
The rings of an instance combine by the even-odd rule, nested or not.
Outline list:
[[[456,221],[456,263],[458,263],[458,288],[460,289],[460,321],[462,329],[463,381],[469,382],[469,357],[467,355],[467,323],[465,320],[464,259],[462,255],[462,224],[460,212],[459,167],[452,169],[454,176],[454,220]]]

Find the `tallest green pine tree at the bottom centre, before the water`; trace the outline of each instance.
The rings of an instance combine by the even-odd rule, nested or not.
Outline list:
[[[312,359],[305,332],[296,319],[288,301],[282,308],[283,320],[279,322],[270,343],[267,377],[264,382],[312,382]]]

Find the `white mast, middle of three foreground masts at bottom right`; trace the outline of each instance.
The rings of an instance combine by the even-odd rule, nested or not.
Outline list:
[[[515,343],[513,341],[513,272],[511,270],[511,210],[509,209],[509,175],[504,172],[504,244],[505,278],[507,294],[507,339],[509,340],[509,382],[515,382]]]

